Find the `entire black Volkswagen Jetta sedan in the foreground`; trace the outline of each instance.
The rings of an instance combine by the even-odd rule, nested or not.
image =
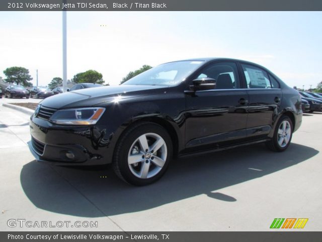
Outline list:
[[[284,151],[301,119],[299,93],[267,69],[189,59],[46,98],[31,117],[31,150],[51,164],[112,163],[120,178],[146,185],[174,156],[259,142]]]

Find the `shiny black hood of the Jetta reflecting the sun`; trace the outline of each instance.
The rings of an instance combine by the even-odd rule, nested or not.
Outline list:
[[[130,98],[154,95],[166,91],[168,86],[120,85],[86,88],[61,93],[44,99],[40,104],[51,108],[88,107],[113,101],[115,97]]]

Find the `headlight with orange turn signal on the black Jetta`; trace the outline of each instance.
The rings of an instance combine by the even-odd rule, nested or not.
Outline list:
[[[58,110],[50,117],[49,121],[60,125],[95,125],[104,111],[103,107]]]

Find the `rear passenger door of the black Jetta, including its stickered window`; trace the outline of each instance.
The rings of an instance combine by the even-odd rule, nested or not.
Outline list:
[[[279,83],[264,69],[241,64],[249,96],[247,136],[262,138],[273,127],[282,99]]]

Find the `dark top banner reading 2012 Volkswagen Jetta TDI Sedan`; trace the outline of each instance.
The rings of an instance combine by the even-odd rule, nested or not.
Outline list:
[[[321,11],[321,0],[7,0],[0,11]]]

